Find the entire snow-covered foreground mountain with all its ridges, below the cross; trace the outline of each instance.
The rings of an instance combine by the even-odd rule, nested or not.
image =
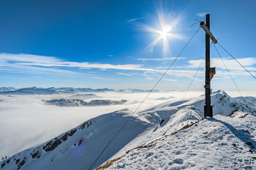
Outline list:
[[[120,110],[87,120],[42,145],[0,162],[3,169],[255,169],[256,111],[222,90],[211,96],[214,117],[204,117],[204,96],[167,101],[132,115]],[[228,117],[227,117],[228,115]]]

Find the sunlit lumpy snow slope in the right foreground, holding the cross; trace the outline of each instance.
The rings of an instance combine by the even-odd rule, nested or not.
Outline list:
[[[256,169],[256,118],[237,111],[136,148],[108,169]]]

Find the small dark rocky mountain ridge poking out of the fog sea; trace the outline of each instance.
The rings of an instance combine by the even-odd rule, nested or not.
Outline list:
[[[43,100],[44,101],[44,100]],[[50,101],[44,101],[47,104],[56,105],[56,106],[109,106],[116,104],[124,104],[127,101],[111,101],[111,100],[92,100],[85,102],[80,99],[54,99]]]

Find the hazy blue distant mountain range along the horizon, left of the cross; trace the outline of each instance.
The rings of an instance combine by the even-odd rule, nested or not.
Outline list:
[[[173,90],[164,90],[173,91]],[[77,92],[150,92],[150,90],[140,89],[92,89],[92,88],[73,88],[73,87],[27,87],[15,89],[14,87],[0,87],[0,94],[16,94],[16,95],[33,95],[33,94],[74,94]],[[162,92],[160,90],[153,90],[152,92]]]

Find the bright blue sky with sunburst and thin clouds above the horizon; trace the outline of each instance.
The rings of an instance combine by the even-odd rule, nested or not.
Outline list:
[[[211,31],[253,74],[255,1],[0,1],[0,86],[150,89],[211,14]],[[164,39],[154,30],[172,26]],[[174,36],[173,36],[174,35]],[[205,53],[200,29],[157,89],[186,90]],[[166,48],[166,49],[168,49]],[[256,81],[220,49],[241,90]],[[236,90],[214,47],[212,88]],[[204,90],[204,66],[191,90]]]

